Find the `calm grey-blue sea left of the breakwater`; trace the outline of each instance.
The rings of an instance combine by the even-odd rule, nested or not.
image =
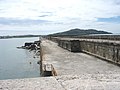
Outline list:
[[[39,38],[0,39],[0,80],[40,77],[35,52],[16,48],[36,40]]]

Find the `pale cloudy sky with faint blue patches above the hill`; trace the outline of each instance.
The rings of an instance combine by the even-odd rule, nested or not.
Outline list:
[[[120,0],[0,0],[0,36],[74,28],[120,34]]]

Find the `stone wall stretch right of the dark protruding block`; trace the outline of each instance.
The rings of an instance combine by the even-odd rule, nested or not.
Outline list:
[[[120,64],[120,44],[81,41],[83,52]]]

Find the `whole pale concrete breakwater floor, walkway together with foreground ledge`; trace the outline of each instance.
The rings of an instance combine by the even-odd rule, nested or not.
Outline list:
[[[73,53],[49,40],[40,44],[43,73],[57,76],[0,80],[1,90],[119,90],[120,67],[83,52]],[[48,65],[45,66],[45,65]]]

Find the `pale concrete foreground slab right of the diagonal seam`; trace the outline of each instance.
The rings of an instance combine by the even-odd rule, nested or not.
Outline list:
[[[64,75],[56,79],[65,90],[120,90],[120,74]]]

